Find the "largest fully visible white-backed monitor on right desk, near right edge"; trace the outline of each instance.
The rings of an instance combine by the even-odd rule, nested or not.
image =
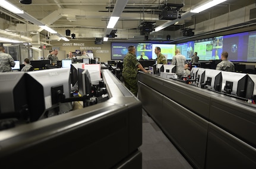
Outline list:
[[[222,92],[245,98],[246,74],[222,71]]]

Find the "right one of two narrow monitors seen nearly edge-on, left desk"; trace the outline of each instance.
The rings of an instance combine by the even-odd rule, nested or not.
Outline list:
[[[78,68],[78,92],[84,96],[91,97],[91,78],[89,71]]]

